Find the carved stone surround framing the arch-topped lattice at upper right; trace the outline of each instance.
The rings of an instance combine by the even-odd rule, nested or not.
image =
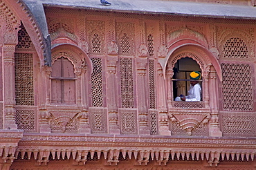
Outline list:
[[[223,29],[223,30],[222,30]],[[239,39],[243,40],[248,48],[248,58],[255,57],[254,51],[254,36],[253,36],[253,28],[248,28],[246,30],[241,29],[231,29],[231,28],[222,28],[221,32],[219,32],[219,52],[220,55],[223,55],[223,46],[226,44],[227,40],[232,37],[239,37]]]

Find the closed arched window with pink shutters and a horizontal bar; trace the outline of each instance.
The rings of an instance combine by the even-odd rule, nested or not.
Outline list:
[[[75,73],[73,64],[61,57],[53,63],[51,74],[51,103],[75,104]]]

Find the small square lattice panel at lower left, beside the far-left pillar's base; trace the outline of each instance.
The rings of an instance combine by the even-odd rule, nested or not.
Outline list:
[[[25,132],[37,131],[37,108],[16,106],[16,124]]]

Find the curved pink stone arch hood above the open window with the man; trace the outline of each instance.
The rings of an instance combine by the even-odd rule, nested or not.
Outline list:
[[[158,62],[161,64],[162,68],[163,68],[163,75],[165,76],[166,74],[166,70],[167,70],[167,63],[173,63],[173,60],[176,59],[177,53],[181,53],[181,51],[183,51],[183,53],[194,53],[194,51],[198,50],[201,54],[199,56],[202,57],[201,61],[205,61],[205,64],[209,66],[210,65],[214,66],[217,75],[220,79],[220,81],[222,82],[222,75],[221,75],[221,66],[218,62],[218,60],[216,59],[216,57],[214,57],[214,55],[212,53],[210,53],[210,50],[208,50],[207,48],[205,48],[204,46],[201,46],[199,44],[182,44],[181,46],[177,46],[176,48],[172,48],[172,50],[169,51],[169,53],[167,53],[167,57],[165,57],[164,59],[159,59]],[[192,55],[191,55],[192,56]],[[192,57],[193,58],[193,57]],[[178,59],[176,59],[178,60]],[[175,62],[174,62],[175,64]],[[203,64],[203,62],[201,62],[201,64]],[[200,65],[200,64],[199,64]],[[202,66],[202,65],[201,65]],[[173,67],[173,66],[170,66]]]

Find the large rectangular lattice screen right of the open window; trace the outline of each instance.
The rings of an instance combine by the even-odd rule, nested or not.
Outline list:
[[[249,64],[221,64],[221,70],[223,110],[253,111],[251,66]]]

